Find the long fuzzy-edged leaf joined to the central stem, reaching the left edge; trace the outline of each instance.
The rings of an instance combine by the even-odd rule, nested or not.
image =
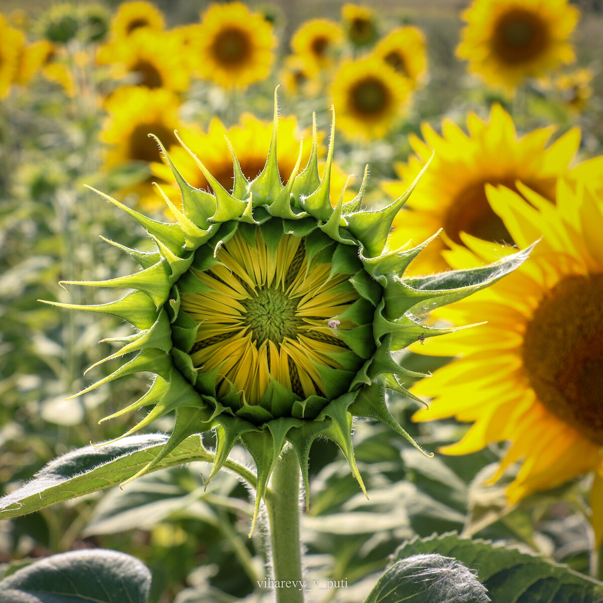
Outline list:
[[[19,517],[90,492],[121,484],[159,454],[169,437],[133,435],[106,446],[86,446],[51,461],[30,482],[0,499],[0,519]],[[153,469],[213,461],[201,437],[191,435]]]

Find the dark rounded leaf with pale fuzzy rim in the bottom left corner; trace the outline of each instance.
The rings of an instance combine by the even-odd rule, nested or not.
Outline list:
[[[131,555],[69,551],[0,581],[0,603],[145,603],[150,589],[151,572]]]

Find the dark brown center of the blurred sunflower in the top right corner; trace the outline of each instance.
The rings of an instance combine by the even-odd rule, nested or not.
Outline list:
[[[494,28],[494,51],[508,63],[537,57],[548,43],[548,28],[535,13],[515,8],[504,14]]]

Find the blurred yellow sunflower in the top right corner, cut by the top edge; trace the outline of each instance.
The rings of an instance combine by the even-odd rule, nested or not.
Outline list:
[[[579,15],[567,0],[474,0],[456,56],[487,83],[513,90],[573,62],[569,39]]]

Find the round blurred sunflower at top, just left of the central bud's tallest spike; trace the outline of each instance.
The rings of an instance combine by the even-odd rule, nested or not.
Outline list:
[[[276,46],[272,26],[241,2],[210,5],[199,42],[201,75],[223,88],[245,88],[270,75]]]

